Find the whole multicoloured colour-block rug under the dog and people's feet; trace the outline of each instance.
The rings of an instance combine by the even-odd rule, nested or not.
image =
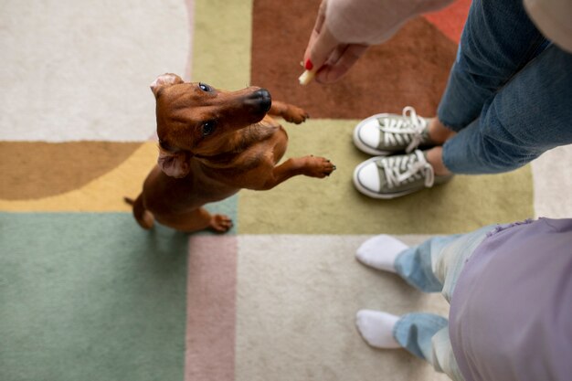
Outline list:
[[[355,123],[409,104],[434,113],[469,2],[410,21],[339,83],[302,88],[319,3],[4,2],[0,379],[446,379],[359,337],[358,309],[448,306],[359,265],[355,249],[375,234],[415,244],[572,206],[546,162],[393,201],[356,192]],[[310,121],[284,123],[287,156],[323,155],[337,171],[208,206],[233,217],[226,235],[143,231],[122,197],[156,160],[148,85],[164,72],[304,107]]]

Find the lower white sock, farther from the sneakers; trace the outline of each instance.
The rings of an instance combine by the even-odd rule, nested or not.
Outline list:
[[[360,310],[355,315],[355,325],[367,344],[376,348],[401,348],[393,337],[393,327],[399,316],[387,312]]]

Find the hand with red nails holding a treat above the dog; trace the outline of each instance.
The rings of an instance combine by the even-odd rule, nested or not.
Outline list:
[[[303,57],[304,69],[314,72],[319,83],[331,83],[340,79],[368,47],[363,44],[345,44],[334,37],[324,23],[327,4],[327,0],[323,0],[320,5]]]

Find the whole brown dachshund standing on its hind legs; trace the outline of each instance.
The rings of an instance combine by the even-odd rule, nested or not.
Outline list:
[[[276,165],[288,135],[267,112],[296,124],[308,114],[271,101],[268,90],[217,90],[186,83],[175,74],[160,76],[151,90],[157,102],[159,159],[143,193],[135,201],[126,198],[143,228],[151,228],[156,218],[185,232],[225,232],[232,227],[230,218],[211,215],[203,205],[241,188],[270,189],[294,175],[322,178],[335,169],[329,160],[312,155]]]

